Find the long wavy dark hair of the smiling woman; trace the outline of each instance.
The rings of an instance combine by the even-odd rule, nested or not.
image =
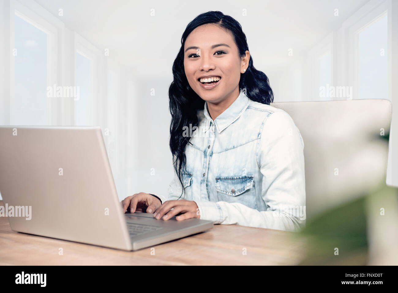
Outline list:
[[[179,178],[179,182],[185,193],[183,184],[183,171],[186,171],[185,146],[189,142],[189,137],[183,136],[183,127],[197,126],[197,111],[203,110],[204,100],[191,88],[184,71],[184,45],[188,35],[198,26],[203,24],[215,24],[220,28],[232,33],[236,46],[241,57],[246,56],[249,47],[246,35],[242,31],[242,26],[234,18],[224,15],[220,11],[209,11],[198,15],[192,20],[181,37],[181,48],[173,63],[173,81],[169,87],[169,110],[172,115],[170,124],[170,150],[173,155],[174,169]],[[268,77],[253,66],[253,57],[250,55],[249,67],[245,73],[240,74],[239,88],[246,89],[246,95],[250,100],[267,104],[273,102],[273,92],[269,86]],[[181,193],[182,195],[182,193]],[[180,197],[181,197],[180,195]]]

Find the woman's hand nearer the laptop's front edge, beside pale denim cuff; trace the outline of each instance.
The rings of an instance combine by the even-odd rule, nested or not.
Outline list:
[[[172,209],[173,208],[173,209]],[[156,219],[162,218],[168,220],[178,213],[183,213],[176,216],[176,220],[186,220],[190,218],[200,219],[200,212],[197,204],[194,201],[187,201],[186,199],[179,199],[177,201],[165,201],[153,216]]]

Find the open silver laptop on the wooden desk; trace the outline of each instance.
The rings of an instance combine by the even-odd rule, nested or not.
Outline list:
[[[213,228],[123,213],[100,126],[0,126],[0,193],[14,231],[121,250]]]

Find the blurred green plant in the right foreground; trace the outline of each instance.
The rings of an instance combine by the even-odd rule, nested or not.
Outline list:
[[[388,144],[389,134],[378,136]],[[355,200],[327,210],[306,221],[306,226],[293,237],[308,241],[305,256],[298,265],[367,265],[369,261],[368,206],[370,197],[377,200],[398,197],[398,188],[385,183]],[[377,208],[377,209],[376,209]],[[394,207],[398,210],[398,206]],[[375,207],[374,212],[378,212]],[[338,254],[336,253],[338,248]]]

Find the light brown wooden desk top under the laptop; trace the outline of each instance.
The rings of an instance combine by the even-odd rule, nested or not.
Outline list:
[[[295,234],[214,225],[207,232],[156,245],[151,255],[151,248],[125,252],[14,232],[8,219],[0,217],[0,265],[295,265],[305,255],[304,240]]]

